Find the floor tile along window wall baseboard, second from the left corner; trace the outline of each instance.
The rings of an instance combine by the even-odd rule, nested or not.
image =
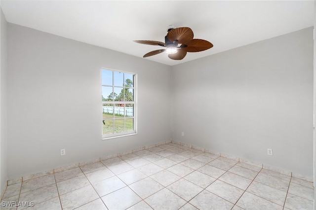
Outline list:
[[[45,175],[22,182],[21,193],[55,183],[54,175]]]

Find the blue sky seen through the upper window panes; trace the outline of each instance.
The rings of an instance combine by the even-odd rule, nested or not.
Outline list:
[[[123,89],[122,88],[123,82],[126,79],[130,79],[133,81],[133,74],[102,69],[102,85],[119,86],[119,87],[114,87],[114,92],[117,93],[118,95]],[[112,93],[112,87],[102,86],[102,96],[104,98],[108,98],[108,96],[111,93]]]

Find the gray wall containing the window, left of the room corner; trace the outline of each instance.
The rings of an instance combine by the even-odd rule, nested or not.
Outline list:
[[[9,178],[170,140],[169,66],[14,24],[8,64]],[[101,140],[102,67],[137,73],[138,135]]]

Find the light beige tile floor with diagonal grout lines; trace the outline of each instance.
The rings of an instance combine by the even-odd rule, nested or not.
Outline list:
[[[1,209],[312,210],[313,198],[312,182],[168,143],[9,185]]]

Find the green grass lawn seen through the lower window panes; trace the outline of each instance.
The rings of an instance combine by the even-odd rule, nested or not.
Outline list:
[[[121,133],[121,132],[129,132],[133,131],[134,128],[134,119],[127,118],[125,119],[125,130],[124,130],[124,119],[120,116],[115,116],[113,121],[112,114],[105,114],[103,113],[103,119],[105,125],[103,124],[103,134],[113,134],[113,124],[114,124],[114,133]]]

